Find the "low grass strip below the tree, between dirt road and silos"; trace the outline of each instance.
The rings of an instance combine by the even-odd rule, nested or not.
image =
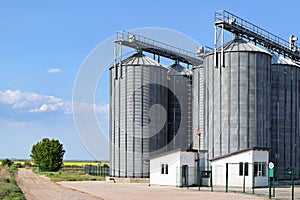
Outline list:
[[[58,171],[58,172],[38,172],[38,169],[33,170],[37,174],[46,175],[51,179],[52,182],[59,181],[103,181],[105,177],[103,176],[91,176],[84,172],[74,172],[74,171]]]

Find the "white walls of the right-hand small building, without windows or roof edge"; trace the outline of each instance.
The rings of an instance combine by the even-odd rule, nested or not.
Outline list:
[[[226,185],[226,163],[228,164],[228,186],[243,186],[244,176],[239,175],[239,163],[248,162],[248,176],[245,176],[245,186],[252,187],[252,177],[254,172],[255,162],[269,162],[268,151],[253,151],[249,150],[236,155],[228,156],[225,158],[220,158],[212,161],[212,178],[213,185],[225,186]],[[267,167],[267,165],[266,165]],[[267,172],[267,169],[265,169]],[[255,177],[255,187],[267,186],[268,185],[268,175],[263,177]]]

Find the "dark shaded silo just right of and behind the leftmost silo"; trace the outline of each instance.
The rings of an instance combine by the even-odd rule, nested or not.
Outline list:
[[[192,71],[177,62],[168,70],[168,150],[192,145]]]

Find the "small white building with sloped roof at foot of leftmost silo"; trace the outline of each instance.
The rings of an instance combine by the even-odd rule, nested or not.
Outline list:
[[[204,154],[200,154],[204,169]],[[197,152],[173,150],[149,158],[150,184],[187,186],[197,184]]]

